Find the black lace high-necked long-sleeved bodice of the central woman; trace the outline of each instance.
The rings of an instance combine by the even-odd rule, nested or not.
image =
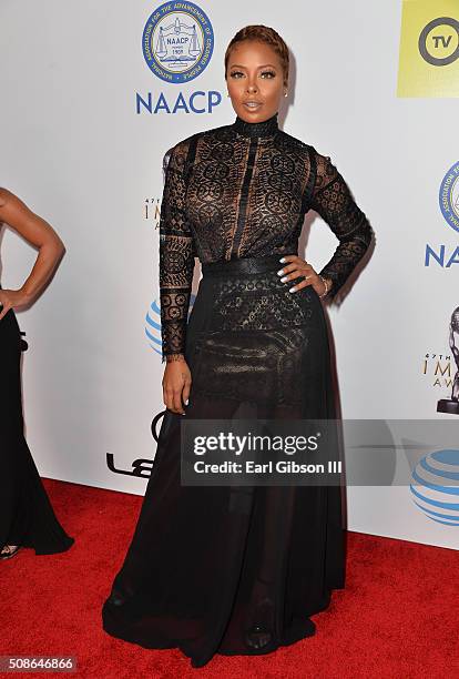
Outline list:
[[[164,156],[160,217],[163,362],[184,353],[194,259],[217,262],[298,252],[315,210],[339,243],[319,272],[334,297],[367,250],[373,230],[328,156],[279,130],[236,118],[197,132]],[[280,267],[280,264],[279,264]]]

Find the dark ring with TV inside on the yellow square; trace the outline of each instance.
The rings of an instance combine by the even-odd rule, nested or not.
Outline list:
[[[448,65],[459,59],[459,21],[439,17],[429,21],[419,36],[419,52],[431,65]]]

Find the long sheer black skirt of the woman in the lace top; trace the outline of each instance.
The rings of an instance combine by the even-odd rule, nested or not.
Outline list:
[[[289,293],[277,255],[203,264],[186,334],[185,415],[166,409],[137,526],[103,607],[110,635],[257,655],[315,632],[343,588],[339,486],[181,485],[181,422],[335,418],[322,302]]]

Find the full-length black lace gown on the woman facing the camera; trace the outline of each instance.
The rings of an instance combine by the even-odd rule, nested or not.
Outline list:
[[[277,115],[194,134],[165,160],[163,361],[184,354],[193,382],[185,415],[164,415],[103,626],[202,667],[314,634],[308,616],[345,581],[341,488],[181,485],[181,420],[334,418],[322,302],[310,286],[289,293],[276,272],[298,253],[309,209],[339,239],[320,272],[333,294],[373,232],[329,158],[280,131]],[[203,278],[186,323],[196,255]]]

